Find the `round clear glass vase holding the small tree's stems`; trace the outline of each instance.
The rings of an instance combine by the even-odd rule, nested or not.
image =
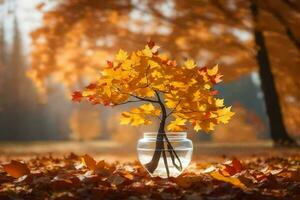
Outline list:
[[[152,177],[177,177],[192,159],[193,143],[186,132],[144,133],[138,159]]]

